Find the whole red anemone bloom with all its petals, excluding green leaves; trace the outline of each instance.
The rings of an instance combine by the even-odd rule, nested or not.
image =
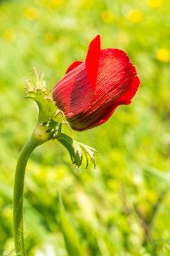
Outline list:
[[[52,90],[53,100],[76,131],[101,125],[121,104],[130,104],[139,87],[136,68],[119,49],[101,50],[100,36],[85,61],[75,61]]]

